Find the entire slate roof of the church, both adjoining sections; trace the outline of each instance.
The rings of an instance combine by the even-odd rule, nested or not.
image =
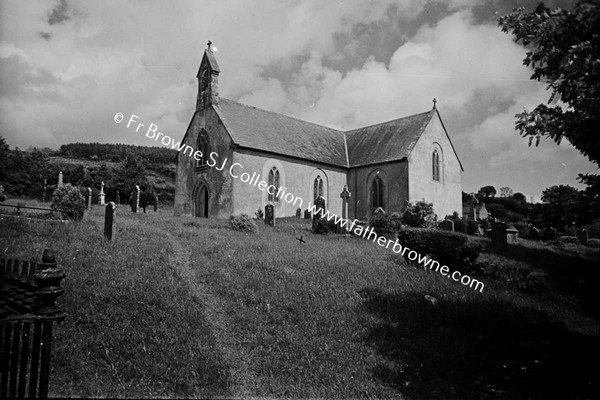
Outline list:
[[[222,97],[214,109],[239,146],[340,167],[408,157],[435,112],[342,132]]]

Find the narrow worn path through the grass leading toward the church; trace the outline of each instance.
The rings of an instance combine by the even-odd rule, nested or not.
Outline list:
[[[160,230],[157,228],[157,230]],[[252,395],[251,385],[256,382],[250,362],[244,349],[231,340],[228,332],[231,327],[227,322],[225,304],[212,293],[208,285],[196,279],[190,263],[191,251],[188,246],[183,246],[171,233],[160,230],[167,238],[172,253],[169,264],[176,268],[183,280],[187,283],[191,293],[205,307],[205,318],[212,328],[218,350],[226,364],[229,366],[231,381],[229,390],[233,396],[248,397]]]

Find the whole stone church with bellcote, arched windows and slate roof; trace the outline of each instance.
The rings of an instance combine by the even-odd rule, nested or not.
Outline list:
[[[202,157],[177,156],[175,215],[254,216],[267,204],[276,217],[296,215],[297,203],[234,177],[234,163],[236,176],[260,174],[302,198],[302,214],[323,196],[327,209],[341,216],[345,185],[352,219],[369,219],[378,207],[403,212],[419,200],[433,203],[438,218],[462,210],[463,168],[435,100],[423,113],[344,132],[219,97],[219,73],[209,42],[196,111],[181,143]]]

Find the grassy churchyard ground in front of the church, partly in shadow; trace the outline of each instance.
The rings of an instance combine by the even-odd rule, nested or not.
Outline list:
[[[280,219],[257,234],[172,210],[2,222],[6,256],[67,278],[51,396],[591,398],[597,250],[480,256],[483,293],[364,239]],[[300,243],[300,235],[306,243]],[[531,290],[527,275],[547,286]],[[437,298],[437,306],[424,299]]]

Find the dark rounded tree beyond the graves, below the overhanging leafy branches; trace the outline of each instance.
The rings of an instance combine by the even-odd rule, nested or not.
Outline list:
[[[564,227],[575,222],[581,206],[579,190],[569,185],[555,185],[542,192],[544,208],[542,218],[545,224]]]

